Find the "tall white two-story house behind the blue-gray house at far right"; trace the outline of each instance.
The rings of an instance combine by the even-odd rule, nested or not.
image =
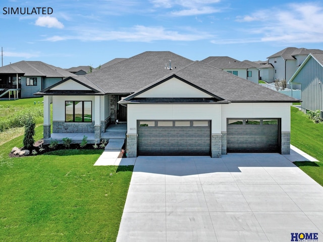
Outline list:
[[[276,79],[288,82],[309,53],[323,53],[323,50],[288,47],[267,57],[268,64],[272,64],[275,69],[274,78],[270,82]],[[299,87],[294,86],[296,88]]]

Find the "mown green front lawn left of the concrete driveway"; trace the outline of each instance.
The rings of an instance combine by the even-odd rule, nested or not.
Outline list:
[[[133,166],[93,166],[102,150],[10,158],[22,140],[0,146],[0,241],[115,241]]]

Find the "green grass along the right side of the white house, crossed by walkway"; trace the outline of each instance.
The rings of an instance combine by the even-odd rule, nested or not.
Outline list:
[[[314,124],[306,114],[291,107],[291,144],[318,161],[323,161],[323,125]],[[294,162],[323,186],[322,162]]]

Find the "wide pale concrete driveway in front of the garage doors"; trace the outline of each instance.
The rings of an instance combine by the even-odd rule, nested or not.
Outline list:
[[[323,241],[322,232],[323,188],[283,155],[138,157],[117,241]]]

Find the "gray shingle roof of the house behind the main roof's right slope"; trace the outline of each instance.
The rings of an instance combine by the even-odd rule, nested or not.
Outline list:
[[[220,68],[220,69],[248,69],[253,68],[247,63],[240,62],[237,59],[228,57],[228,56],[209,56],[203,59],[201,62],[208,64],[212,67]]]

